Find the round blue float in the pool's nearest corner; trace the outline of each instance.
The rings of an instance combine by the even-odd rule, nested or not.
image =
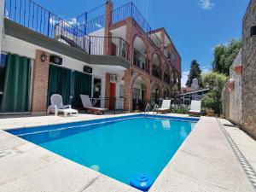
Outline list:
[[[136,189],[148,191],[153,184],[153,180],[146,174],[138,174],[137,176],[131,178],[130,184]]]

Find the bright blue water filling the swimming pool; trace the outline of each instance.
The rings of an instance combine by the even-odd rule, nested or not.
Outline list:
[[[138,173],[147,173],[155,180],[194,125],[195,121],[142,116],[9,132],[129,184]]]

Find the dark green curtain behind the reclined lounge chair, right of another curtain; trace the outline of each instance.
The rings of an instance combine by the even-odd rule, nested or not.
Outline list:
[[[92,77],[89,74],[74,72],[74,96],[73,107],[82,108],[80,95],[91,95]]]

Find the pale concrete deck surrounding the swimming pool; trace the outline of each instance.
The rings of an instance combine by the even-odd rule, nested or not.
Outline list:
[[[0,116],[0,191],[137,191],[113,178],[1,131],[1,129],[52,125],[130,114],[79,114],[78,117],[69,118],[25,115],[15,118],[7,116],[1,119]],[[223,121],[221,119],[222,124],[227,123]],[[250,137],[240,133],[232,135],[228,132],[228,134],[231,137],[236,136],[236,141],[240,143],[247,143],[250,140]],[[239,139],[240,135],[242,139]],[[249,147],[255,152],[256,144],[254,144],[255,141],[250,141]],[[247,151],[248,154],[250,153]],[[249,160],[253,163],[255,159],[252,155]],[[218,120],[201,117],[149,190],[149,192],[156,191],[253,192],[254,189]]]

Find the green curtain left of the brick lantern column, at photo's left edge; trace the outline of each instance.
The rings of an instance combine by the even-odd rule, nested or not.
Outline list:
[[[19,55],[8,55],[1,112],[29,110],[30,73],[30,59]]]

